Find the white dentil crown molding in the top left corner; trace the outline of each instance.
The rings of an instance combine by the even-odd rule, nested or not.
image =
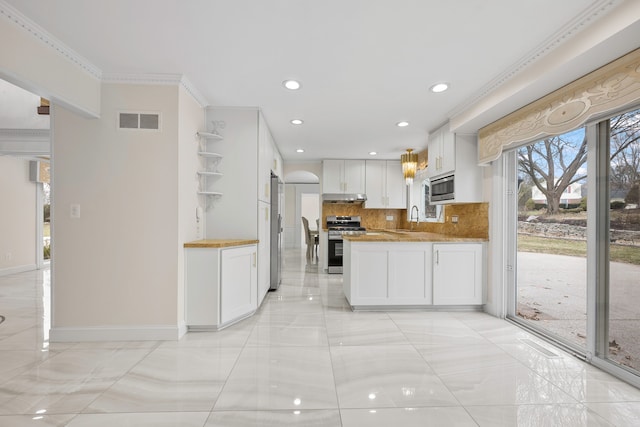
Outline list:
[[[48,48],[53,49],[59,55],[64,56],[69,61],[76,64],[78,67],[94,76],[97,79],[102,78],[102,71],[92,64],[89,60],[82,55],[75,52],[69,46],[62,43],[44,28],[33,22],[31,19],[23,15],[21,12],[13,8],[12,6],[0,0],[0,19],[6,19],[14,25],[20,27],[23,31],[26,31],[31,36],[38,39],[41,43],[44,43]]]

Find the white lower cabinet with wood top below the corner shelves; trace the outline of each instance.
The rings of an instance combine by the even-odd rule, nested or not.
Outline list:
[[[185,249],[185,320],[221,329],[257,309],[256,245]]]

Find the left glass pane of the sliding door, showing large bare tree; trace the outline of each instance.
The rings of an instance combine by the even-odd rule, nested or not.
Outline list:
[[[516,316],[584,353],[587,338],[585,129],[517,150]]]

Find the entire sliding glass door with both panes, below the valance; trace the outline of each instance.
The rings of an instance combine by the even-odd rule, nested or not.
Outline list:
[[[505,160],[509,317],[640,384],[640,109]]]

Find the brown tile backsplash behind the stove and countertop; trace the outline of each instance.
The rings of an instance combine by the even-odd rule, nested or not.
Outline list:
[[[327,228],[326,217],[329,215],[360,215],[362,226],[367,229],[410,228],[406,209],[365,209],[357,204],[324,203],[321,218],[324,229]],[[446,205],[443,216],[443,223],[421,222],[417,226],[413,224],[413,228],[456,237],[489,238],[488,203]],[[458,217],[457,224],[451,222],[451,218],[455,216]]]

